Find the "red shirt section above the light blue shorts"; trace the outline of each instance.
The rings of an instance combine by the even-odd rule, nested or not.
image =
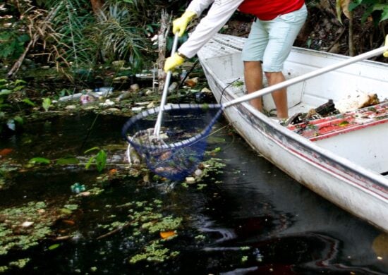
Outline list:
[[[260,20],[272,20],[275,17],[297,11],[305,0],[245,0],[238,7],[242,13],[250,13]]]

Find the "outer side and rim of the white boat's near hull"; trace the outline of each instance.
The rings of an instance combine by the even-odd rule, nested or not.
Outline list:
[[[235,99],[239,94],[227,87],[229,84],[214,67],[208,66],[207,59],[214,58],[208,50],[205,48],[198,56],[214,97],[221,103]],[[388,232],[387,178],[280,126],[247,102],[224,109],[224,115],[253,149],[279,169],[342,209]],[[388,133],[387,127],[388,123],[384,123],[384,133]]]

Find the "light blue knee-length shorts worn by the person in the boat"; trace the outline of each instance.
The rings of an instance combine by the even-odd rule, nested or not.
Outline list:
[[[241,58],[243,61],[262,61],[262,70],[265,72],[281,71],[306,18],[305,5],[298,11],[277,16],[272,20],[257,18],[252,23]]]

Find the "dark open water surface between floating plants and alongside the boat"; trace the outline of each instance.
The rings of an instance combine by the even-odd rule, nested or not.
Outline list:
[[[35,123],[23,134],[2,138],[0,149],[14,148],[13,158],[21,161],[37,154],[55,158],[122,142],[120,131],[126,119],[107,116],[97,117],[85,142],[94,120],[95,116],[73,116]],[[219,131],[218,142],[210,145],[222,147],[217,157],[226,166],[223,173],[206,179],[205,188],[115,181],[104,187],[102,195],[82,201],[73,216],[74,238],[47,239],[29,250],[0,255],[0,266],[29,257],[26,267],[8,273],[388,274],[388,243],[377,243],[381,231],[296,183],[230,133]],[[71,184],[90,183],[96,176],[96,171],[81,168],[19,173],[9,188],[0,190],[0,207],[33,200],[64,203],[71,195]],[[108,206],[155,198],[162,200],[164,212],[183,216],[178,236],[166,243],[180,253],[161,263],[130,264],[128,259],[142,249],[128,238],[131,229],[99,239],[97,225],[111,215],[126,219],[126,213]],[[61,246],[49,250],[53,243]]]

